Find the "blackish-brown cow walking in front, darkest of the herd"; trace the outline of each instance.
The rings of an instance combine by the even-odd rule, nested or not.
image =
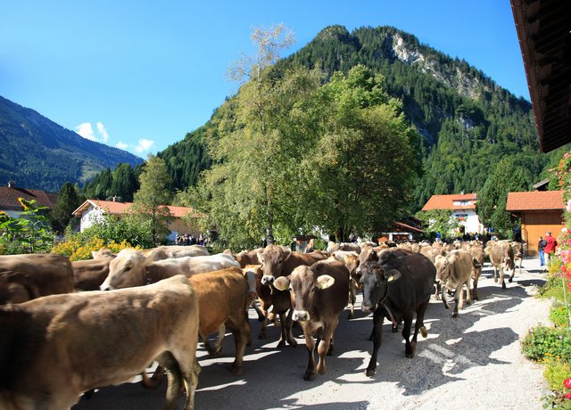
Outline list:
[[[394,250],[385,251],[377,259],[374,256],[368,258],[360,264],[359,271],[363,287],[361,308],[365,313],[374,314],[373,353],[366,372],[372,376],[377,371],[385,317],[393,322],[393,327],[404,321],[402,337],[406,357],[414,357],[416,353],[418,331],[426,337],[424,316],[432,294],[436,268],[424,255]],[[410,340],[410,327],[415,314],[415,331]]]

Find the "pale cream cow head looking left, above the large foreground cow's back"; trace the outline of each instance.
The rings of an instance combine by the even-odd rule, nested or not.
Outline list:
[[[100,286],[102,291],[145,285],[145,256],[137,250],[121,250],[109,264],[109,275]]]

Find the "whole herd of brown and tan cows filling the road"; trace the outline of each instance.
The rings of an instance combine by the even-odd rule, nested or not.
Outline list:
[[[426,337],[431,296],[448,308],[453,291],[457,316],[464,285],[467,301],[477,299],[484,253],[505,287],[504,271],[512,271],[511,282],[517,259],[521,268],[517,242],[490,241],[485,250],[481,242],[330,243],[312,253],[268,245],[217,255],[199,245],[161,246],[101,250],[77,262],[54,254],[0,256],[0,408],[70,408],[81,394],[137,374],[153,386],[166,369],[167,408],[176,408],[184,388],[185,408],[192,409],[197,343],[218,356],[228,327],[236,344],[231,371],[242,373],[251,306],[262,322],[259,339],[272,322],[281,331],[278,346],[296,345],[293,323],[301,324],[309,352],[304,379],[312,380],[326,373],[339,316],[347,305],[352,316],[357,291],[363,312],[373,314],[372,376],[385,317],[393,332],[402,324],[405,356],[414,357],[418,332]],[[434,293],[434,284],[441,291]],[[211,347],[207,338],[215,332]],[[153,361],[159,367],[150,379],[145,368]]]

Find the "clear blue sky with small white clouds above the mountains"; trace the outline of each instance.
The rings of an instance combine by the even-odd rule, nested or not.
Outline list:
[[[0,95],[143,158],[210,119],[252,28],[277,23],[285,54],[329,25],[394,26],[529,100],[509,0],[0,0],[0,16]]]

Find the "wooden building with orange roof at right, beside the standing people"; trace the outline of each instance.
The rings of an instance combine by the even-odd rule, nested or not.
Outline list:
[[[537,255],[537,243],[547,231],[557,238],[565,226],[564,191],[534,191],[508,193],[506,210],[521,218],[521,237],[527,243],[527,253]]]

